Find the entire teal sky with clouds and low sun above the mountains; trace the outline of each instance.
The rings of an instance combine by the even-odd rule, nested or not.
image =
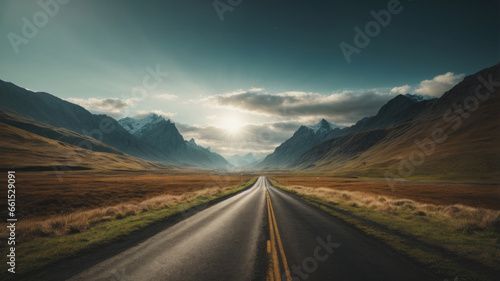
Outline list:
[[[224,156],[439,97],[500,59],[498,1],[7,0],[0,22],[1,80],[161,114]]]

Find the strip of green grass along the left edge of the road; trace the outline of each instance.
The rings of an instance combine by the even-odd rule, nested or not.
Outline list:
[[[52,233],[50,237],[37,237],[31,241],[18,243],[16,246],[16,257],[18,259],[16,262],[16,275],[17,277],[26,276],[29,272],[40,270],[57,261],[119,241],[135,231],[168,217],[183,212],[190,213],[190,210],[199,209],[199,206],[204,206],[210,201],[234,194],[253,185],[256,179],[257,177],[240,186],[217,189],[215,193],[199,195],[186,201],[176,201],[176,203],[167,205],[160,204],[156,205],[156,207],[143,208],[134,212],[125,210],[125,213],[119,212],[114,216],[104,216],[88,223],[89,226],[78,233],[64,233],[62,235]],[[2,244],[5,245],[6,243]],[[2,253],[7,252],[5,246],[2,246],[0,250]],[[13,277],[13,274],[7,274],[7,267],[4,263],[0,279],[11,280],[10,278],[14,279]]]

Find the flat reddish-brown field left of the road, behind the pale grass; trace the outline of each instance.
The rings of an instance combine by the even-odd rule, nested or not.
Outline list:
[[[16,172],[17,216],[38,219],[159,195],[183,195],[210,187],[234,187],[250,176],[177,171],[72,171],[62,181],[54,172]],[[3,188],[6,188],[4,186]],[[5,191],[6,192],[6,191]],[[6,215],[2,208],[0,215]]]

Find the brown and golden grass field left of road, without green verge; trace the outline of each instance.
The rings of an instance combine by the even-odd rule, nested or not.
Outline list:
[[[20,171],[16,176],[18,237],[24,241],[87,232],[112,219],[193,206],[229,194],[252,179],[168,170],[72,171],[62,181],[53,172]],[[0,235],[5,237],[6,230]]]

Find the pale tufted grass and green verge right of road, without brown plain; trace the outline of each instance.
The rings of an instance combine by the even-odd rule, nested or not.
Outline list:
[[[284,186],[273,179],[271,182],[384,242],[443,279],[489,280],[488,275],[500,270],[498,211]]]

